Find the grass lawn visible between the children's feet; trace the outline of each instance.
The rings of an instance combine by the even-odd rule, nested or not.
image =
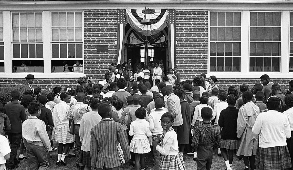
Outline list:
[[[215,150],[216,151],[216,150]],[[48,168],[49,170],[75,170],[77,169],[75,167],[75,158],[66,158],[65,162],[67,163],[67,166],[56,166],[56,161],[57,161],[57,150],[53,151],[51,153],[51,161],[50,161],[50,167]],[[186,169],[192,169],[196,170],[196,162],[192,159],[193,156],[188,155],[186,160],[185,160],[185,166]],[[149,170],[153,169],[153,155],[152,153],[147,154],[147,160],[146,160],[146,166],[148,167]],[[223,157],[218,157],[217,155],[214,155],[213,163],[212,163],[212,170],[224,170],[226,168],[224,164],[224,159]],[[234,160],[233,160],[233,166],[232,168],[234,170],[242,170],[244,169],[244,163],[243,160],[238,160],[238,158],[234,155]],[[134,167],[132,167],[129,163],[122,165],[122,170],[132,170]],[[21,163],[19,164],[19,168],[16,170],[29,170],[28,167],[28,162],[27,160],[22,160]]]

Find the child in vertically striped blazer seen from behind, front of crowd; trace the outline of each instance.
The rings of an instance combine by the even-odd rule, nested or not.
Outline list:
[[[111,120],[112,109],[109,104],[100,104],[98,113],[102,120],[91,129],[91,167],[92,169],[120,169],[118,143],[120,143],[125,161],[130,160],[130,150],[122,126]]]

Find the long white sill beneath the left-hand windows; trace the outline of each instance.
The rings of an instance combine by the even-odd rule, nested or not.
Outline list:
[[[25,78],[27,74],[33,74],[35,78],[79,78],[85,73],[0,73],[0,78]]]

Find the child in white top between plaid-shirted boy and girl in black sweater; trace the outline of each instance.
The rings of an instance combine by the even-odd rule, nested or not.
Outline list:
[[[219,129],[220,132],[221,132],[221,127],[219,126],[219,117],[220,117],[221,111],[228,107],[228,104],[226,102],[227,97],[228,97],[227,94],[221,93],[219,95],[220,102],[215,105],[214,110],[213,110],[213,120],[215,118],[214,125],[216,125],[216,127]],[[217,155],[219,157],[221,156],[220,148],[218,148],[218,154]]]

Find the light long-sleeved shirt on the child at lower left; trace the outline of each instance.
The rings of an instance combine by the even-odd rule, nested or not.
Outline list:
[[[27,143],[45,146],[48,151],[52,150],[45,122],[36,116],[28,116],[28,119],[23,122],[22,128],[22,136]]]

